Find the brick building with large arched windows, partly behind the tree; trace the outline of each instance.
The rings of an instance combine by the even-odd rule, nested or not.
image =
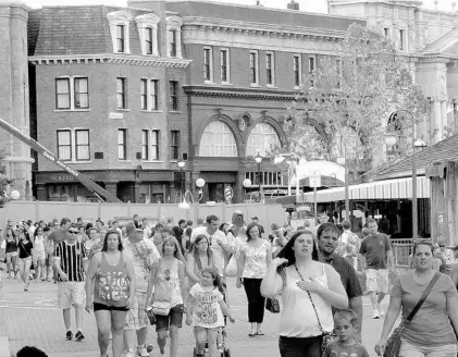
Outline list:
[[[203,201],[221,201],[231,185],[234,200],[240,201],[246,177],[248,190],[258,190],[253,156],[259,150],[263,189],[285,188],[287,177],[268,156],[285,141],[286,108],[347,27],[364,21],[193,0],[168,2],[166,10],[183,20],[183,53],[193,60],[184,87],[189,186],[202,177]]]

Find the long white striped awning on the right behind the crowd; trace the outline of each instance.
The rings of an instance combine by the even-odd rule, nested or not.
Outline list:
[[[308,201],[313,201],[313,193],[306,193]],[[411,199],[412,178],[375,181],[349,186],[349,199]],[[417,198],[430,198],[430,180],[417,177]],[[318,202],[345,200],[345,187],[321,189],[317,193]]]

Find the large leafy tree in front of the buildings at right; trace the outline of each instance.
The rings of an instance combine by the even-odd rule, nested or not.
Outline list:
[[[385,136],[412,135],[409,115],[419,123],[429,114],[430,103],[413,83],[406,59],[383,34],[357,24],[349,26],[335,53],[320,61],[287,110],[287,150],[299,157],[344,157],[356,173],[366,171]],[[411,140],[401,139],[404,155]],[[380,155],[379,155],[380,156]]]

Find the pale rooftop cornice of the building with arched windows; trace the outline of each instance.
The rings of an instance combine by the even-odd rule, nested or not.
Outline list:
[[[249,23],[224,19],[207,19],[196,16],[183,17],[184,29],[205,32],[239,33],[280,38],[309,38],[312,40],[339,41],[345,32],[334,29],[311,28],[305,26],[272,26],[263,23]]]

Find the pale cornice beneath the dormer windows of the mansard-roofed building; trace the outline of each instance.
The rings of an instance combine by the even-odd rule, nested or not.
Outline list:
[[[29,56],[28,61],[33,64],[132,64],[146,66],[165,66],[184,69],[189,65],[191,60],[164,57],[128,56],[115,53],[101,54],[63,54],[63,56]]]

